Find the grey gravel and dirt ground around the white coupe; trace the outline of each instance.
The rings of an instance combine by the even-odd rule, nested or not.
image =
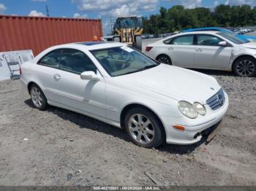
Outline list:
[[[0,185],[256,185],[256,78],[214,75],[230,96],[206,145],[144,149],[124,130],[31,104],[19,80],[0,82]]]

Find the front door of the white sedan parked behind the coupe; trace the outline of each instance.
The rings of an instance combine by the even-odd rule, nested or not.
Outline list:
[[[230,63],[232,47],[222,47],[217,36],[197,34],[195,45],[195,68],[198,69],[227,69]]]

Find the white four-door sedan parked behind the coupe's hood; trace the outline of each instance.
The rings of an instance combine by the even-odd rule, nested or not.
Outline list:
[[[190,69],[233,71],[241,77],[256,76],[256,43],[219,31],[176,34],[148,44],[146,55]]]

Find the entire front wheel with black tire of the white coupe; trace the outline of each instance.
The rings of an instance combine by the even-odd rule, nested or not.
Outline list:
[[[157,148],[165,141],[161,122],[147,109],[130,109],[124,118],[124,126],[132,142],[140,147]]]

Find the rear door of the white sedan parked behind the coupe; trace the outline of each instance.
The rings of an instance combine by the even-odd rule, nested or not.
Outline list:
[[[175,66],[192,68],[195,59],[194,35],[187,34],[177,36],[164,42],[167,44],[167,52]]]

